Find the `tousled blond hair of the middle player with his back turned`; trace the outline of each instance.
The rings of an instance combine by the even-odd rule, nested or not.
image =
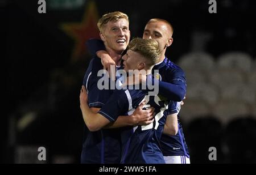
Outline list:
[[[127,49],[133,50],[146,58],[148,66],[155,65],[159,61],[159,44],[155,40],[135,38],[131,40]]]

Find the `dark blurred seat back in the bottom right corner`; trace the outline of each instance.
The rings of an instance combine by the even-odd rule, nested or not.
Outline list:
[[[256,120],[251,116],[232,119],[222,137],[225,162],[256,163]]]

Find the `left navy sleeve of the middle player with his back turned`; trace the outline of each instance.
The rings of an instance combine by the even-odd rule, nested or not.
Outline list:
[[[123,90],[117,90],[98,113],[109,119],[110,122],[114,122],[117,120],[118,116],[127,112],[128,109],[129,102],[125,92]]]

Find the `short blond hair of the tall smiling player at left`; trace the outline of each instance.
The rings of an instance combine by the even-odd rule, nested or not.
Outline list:
[[[102,32],[105,28],[105,24],[108,22],[118,22],[120,19],[126,19],[127,22],[129,22],[129,18],[126,14],[120,11],[114,11],[110,12],[108,14],[103,15],[99,20],[98,20],[98,29],[100,32]]]

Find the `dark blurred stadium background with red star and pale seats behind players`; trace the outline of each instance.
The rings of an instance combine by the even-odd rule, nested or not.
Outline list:
[[[48,0],[0,2],[5,89],[1,163],[79,163],[84,123],[79,108],[90,61],[84,42],[97,38],[106,12],[129,15],[131,37],[151,18],[174,26],[167,57],[187,75],[181,109],[191,163],[256,163],[256,3],[217,1]],[[7,74],[6,74],[7,72]],[[208,159],[209,147],[217,160]]]

